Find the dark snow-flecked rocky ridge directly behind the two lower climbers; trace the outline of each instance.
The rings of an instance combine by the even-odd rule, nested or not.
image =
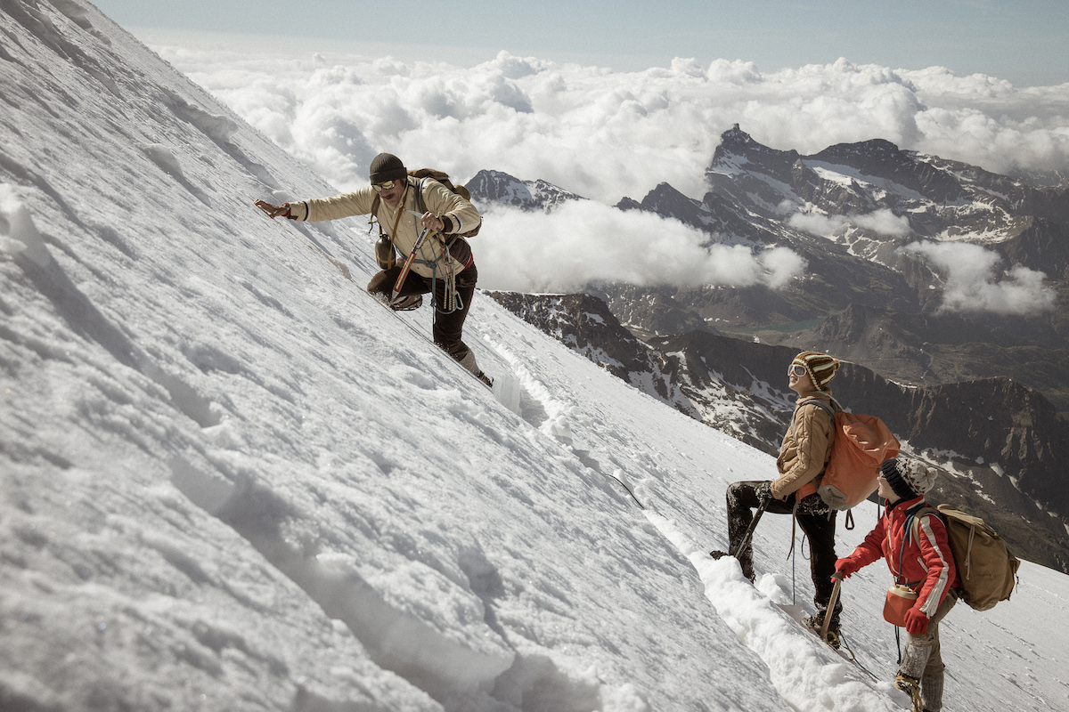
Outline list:
[[[794,399],[786,370],[797,349],[704,331],[644,344],[586,295],[487,295],[635,387],[778,450]],[[1069,572],[1069,424],[1042,395],[1007,378],[904,385],[846,362],[833,385],[843,407],[879,415],[903,452],[941,470],[932,499],[975,511],[1025,558]]]

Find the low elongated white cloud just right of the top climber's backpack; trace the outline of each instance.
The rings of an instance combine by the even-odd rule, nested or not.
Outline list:
[[[708,235],[678,220],[590,201],[549,213],[495,208],[486,220],[493,231],[475,239],[479,284],[487,289],[564,292],[592,281],[778,288],[806,266],[786,248],[706,246]]]

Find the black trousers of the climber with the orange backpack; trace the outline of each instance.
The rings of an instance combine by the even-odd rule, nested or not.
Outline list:
[[[755,487],[759,482],[735,482],[728,487],[728,542],[729,551],[734,552],[739,541],[749,523],[754,521],[753,509],[756,509],[760,502],[757,499]],[[838,512],[833,511],[819,494],[810,494],[799,503],[795,510],[794,495],[787,500],[772,500],[765,507],[766,513],[791,515],[797,517],[799,526],[809,539],[809,574],[812,576],[812,586],[816,594],[812,597],[814,605],[817,606],[817,614],[823,618],[827,612],[827,603],[832,599],[832,589],[835,584],[832,582],[832,574],[835,573],[835,518]],[[754,547],[750,542],[739,552],[739,564],[743,573],[754,580]],[[842,612],[841,597],[835,602],[835,611],[832,614],[832,627],[839,623],[839,614]]]

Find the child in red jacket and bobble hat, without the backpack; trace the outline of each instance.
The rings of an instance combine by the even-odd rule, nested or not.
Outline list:
[[[940,654],[939,622],[958,602],[955,590],[961,585],[950,553],[943,520],[931,510],[925,494],[935,481],[935,471],[915,460],[886,460],[880,466],[880,496],[887,506],[876,527],[850,556],[835,563],[849,576],[880,557],[887,561],[895,583],[917,594],[905,613],[909,633],[896,684],[917,701],[925,712],[943,709],[943,659]]]

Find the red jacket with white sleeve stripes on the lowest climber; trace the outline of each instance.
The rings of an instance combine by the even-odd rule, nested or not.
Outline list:
[[[947,592],[961,586],[961,579],[943,520],[929,510],[917,517],[919,526],[912,523],[911,515],[926,506],[930,505],[923,496],[887,505],[876,527],[847,560],[859,569],[883,556],[895,581],[917,592],[913,607],[931,618]],[[917,533],[916,539],[913,532]]]

